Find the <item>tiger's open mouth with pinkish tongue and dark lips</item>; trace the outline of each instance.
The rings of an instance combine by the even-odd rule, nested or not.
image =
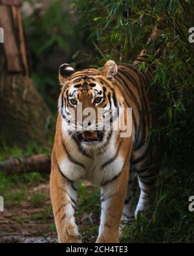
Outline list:
[[[103,139],[103,135],[99,131],[84,131],[79,133],[77,137],[81,143],[100,142]]]

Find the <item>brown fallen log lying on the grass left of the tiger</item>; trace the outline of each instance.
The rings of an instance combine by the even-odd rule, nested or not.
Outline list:
[[[22,172],[40,172],[49,174],[50,166],[50,156],[35,155],[10,157],[5,161],[0,161],[0,172],[5,172],[7,175]]]

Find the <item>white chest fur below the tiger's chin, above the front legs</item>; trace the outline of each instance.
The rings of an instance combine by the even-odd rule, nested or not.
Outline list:
[[[69,153],[74,161],[70,161],[67,156],[61,159],[59,163],[61,172],[72,181],[84,179],[91,181],[94,185],[102,185],[109,180],[113,180],[121,172],[124,165],[124,159],[120,154],[114,158],[117,150],[114,143],[113,138],[105,152],[102,154],[91,152],[91,158],[83,155],[78,150],[76,143],[70,143]],[[105,165],[108,161],[110,163]]]

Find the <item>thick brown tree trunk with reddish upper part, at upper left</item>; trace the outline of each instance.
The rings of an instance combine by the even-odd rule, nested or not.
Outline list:
[[[1,3],[4,43],[0,43],[0,137],[8,145],[46,143],[52,117],[30,78],[20,10],[14,1]]]

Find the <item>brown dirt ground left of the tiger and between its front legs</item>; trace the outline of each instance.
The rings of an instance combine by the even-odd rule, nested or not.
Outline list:
[[[44,196],[44,200],[39,202],[40,205],[33,205],[30,201],[33,194]],[[82,207],[85,207],[85,203],[82,203]],[[5,211],[0,212],[0,243],[57,242],[48,181],[39,183],[36,187],[29,187],[25,200],[20,204],[5,204],[4,208]],[[99,216],[92,212],[93,209],[89,213],[86,213],[81,205],[78,209],[80,212],[76,212],[76,222],[83,242],[95,242]]]

